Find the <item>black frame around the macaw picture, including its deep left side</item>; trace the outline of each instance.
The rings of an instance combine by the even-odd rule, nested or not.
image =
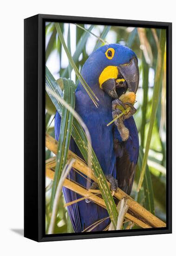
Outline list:
[[[166,29],[167,45],[167,226],[73,234],[45,234],[45,22],[71,22]],[[38,14],[24,20],[24,236],[38,242],[139,236],[172,232],[172,23]],[[38,88],[38,90],[36,90]],[[36,93],[37,91],[37,93]],[[34,93],[35,92],[35,93]],[[36,111],[38,109],[38,111]]]

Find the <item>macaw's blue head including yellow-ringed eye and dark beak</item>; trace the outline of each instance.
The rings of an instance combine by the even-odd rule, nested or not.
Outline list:
[[[82,73],[88,84],[95,86],[96,81],[96,85],[112,98],[120,97],[127,90],[137,92],[137,56],[123,45],[109,44],[98,48],[85,62]]]

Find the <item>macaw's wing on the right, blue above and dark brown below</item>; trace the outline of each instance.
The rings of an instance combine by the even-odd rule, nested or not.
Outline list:
[[[124,125],[129,129],[130,136],[127,141],[119,142],[116,145],[116,178],[118,187],[130,195],[139,154],[139,139],[133,117],[126,119]]]

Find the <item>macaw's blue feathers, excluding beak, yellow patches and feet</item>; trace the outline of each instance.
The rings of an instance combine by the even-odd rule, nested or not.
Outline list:
[[[104,54],[109,47],[113,47],[115,49],[115,55],[112,60],[107,59]],[[134,56],[136,57],[134,52],[129,48],[118,44],[105,45],[98,48],[98,50],[92,53],[87,61],[85,61],[81,74],[98,97],[99,107],[96,108],[94,106],[81,83],[78,84],[78,88],[76,90],[75,103],[75,110],[82,117],[89,129],[91,134],[92,148],[97,155],[104,174],[111,174],[118,180],[120,180],[118,176],[121,175],[122,181],[120,180],[120,183],[122,185],[120,184],[119,187],[122,189],[124,188],[124,191],[127,193],[130,193],[132,187],[131,179],[133,180],[134,167],[138,158],[139,142],[136,124],[133,117],[130,117],[124,121],[125,126],[130,131],[130,136],[127,141],[123,141],[121,143],[122,146],[120,146],[119,151],[115,152],[113,140],[114,138],[118,138],[118,141],[120,141],[121,138],[115,125],[110,125],[107,127],[107,124],[112,120],[112,98],[108,94],[104,93],[104,91],[99,87],[98,78],[105,67],[118,66],[120,64],[127,63]],[[55,116],[56,140],[59,139],[60,121],[61,118],[57,112]],[[70,149],[78,156],[83,158],[72,138]],[[123,157],[124,152],[127,154],[125,158]],[[122,160],[124,160],[126,165],[128,163],[128,166],[125,167]],[[117,163],[119,163],[119,166]],[[126,180],[123,175],[123,172],[125,173],[123,170],[123,165],[127,172]],[[131,173],[130,176],[128,175],[129,173]],[[70,172],[70,178],[86,187],[86,179],[78,175],[78,173],[76,173],[74,170]],[[63,193],[66,202],[70,202],[81,197],[80,195],[77,195],[73,191],[66,188],[63,189]],[[94,222],[108,217],[108,213],[105,209],[93,202],[86,203],[85,200],[69,206],[68,212],[75,232],[81,232]],[[92,231],[104,230],[109,222],[110,219],[108,218],[95,227]]]

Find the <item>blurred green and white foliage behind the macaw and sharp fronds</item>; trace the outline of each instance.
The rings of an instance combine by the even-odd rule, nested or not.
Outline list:
[[[159,91],[159,104],[156,119],[152,131],[149,156],[145,171],[143,186],[137,192],[137,185],[143,162],[143,152],[147,141],[151,108],[153,102],[153,88],[155,85],[156,62],[158,54],[160,29],[111,27],[79,24],[60,23],[60,29],[64,36],[67,48],[72,59],[81,70],[88,56],[103,45],[101,37],[108,43],[119,43],[130,47],[138,57],[140,69],[140,82],[137,91],[137,113],[134,115],[140,140],[140,155],[131,196],[140,202],[163,221],[166,220],[166,56],[162,74],[162,86]],[[90,34],[81,27],[87,29]],[[98,37],[96,37],[97,35]],[[60,77],[71,78],[76,86],[78,77],[69,64],[63,45],[57,34],[55,24],[46,23],[46,66],[63,89]],[[54,137],[54,121],[56,109],[48,94],[46,94],[46,131]],[[46,159],[52,157],[51,151],[46,149]],[[49,220],[49,204],[51,199],[52,184],[46,179],[46,227]],[[137,227],[134,227],[137,228]],[[72,225],[64,207],[64,198],[59,200],[59,211],[54,233],[72,232]]]

